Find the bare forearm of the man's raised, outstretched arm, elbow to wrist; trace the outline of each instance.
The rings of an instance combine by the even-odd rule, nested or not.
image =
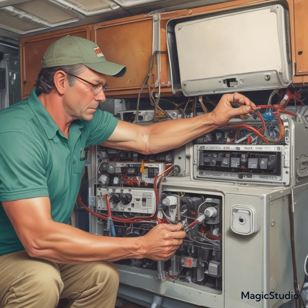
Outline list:
[[[213,124],[210,113],[152,124],[148,127],[149,152],[159,153],[178,148],[217,127]]]

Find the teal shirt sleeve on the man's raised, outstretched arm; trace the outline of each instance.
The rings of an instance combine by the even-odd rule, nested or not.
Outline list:
[[[96,110],[93,114],[93,119],[87,123],[89,125],[89,136],[85,147],[101,144],[107,140],[115,130],[117,124],[118,119],[111,113],[99,109]]]

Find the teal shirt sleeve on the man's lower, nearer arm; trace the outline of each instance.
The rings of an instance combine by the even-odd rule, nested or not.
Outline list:
[[[2,132],[0,144],[0,201],[48,197],[41,145],[26,132]]]

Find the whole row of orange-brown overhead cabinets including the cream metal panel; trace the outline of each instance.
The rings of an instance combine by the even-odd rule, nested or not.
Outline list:
[[[307,11],[307,0],[234,0],[23,38],[22,98],[34,88],[47,47],[67,34],[91,39],[108,61],[127,67],[123,77],[107,76],[109,97],[138,96],[154,51],[161,53],[153,59],[144,96],[148,86],[153,95],[190,96],[303,85]]]

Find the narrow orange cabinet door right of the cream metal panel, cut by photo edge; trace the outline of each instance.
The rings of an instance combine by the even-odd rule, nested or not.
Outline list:
[[[308,75],[308,1],[294,0],[295,75]]]

